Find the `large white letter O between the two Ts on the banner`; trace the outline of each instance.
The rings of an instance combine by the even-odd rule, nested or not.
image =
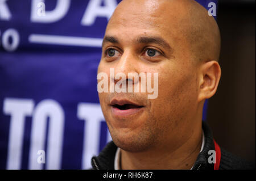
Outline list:
[[[49,117],[49,132],[46,169],[61,169],[64,112],[60,104],[51,99],[42,100],[33,113],[28,169],[43,169],[43,165],[37,162],[36,153],[45,148],[47,117]]]

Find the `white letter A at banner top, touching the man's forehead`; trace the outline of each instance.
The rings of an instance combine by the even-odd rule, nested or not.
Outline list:
[[[104,2],[105,6],[101,6]],[[87,9],[82,17],[81,24],[84,26],[91,26],[96,17],[110,18],[117,6],[116,0],[90,0]]]

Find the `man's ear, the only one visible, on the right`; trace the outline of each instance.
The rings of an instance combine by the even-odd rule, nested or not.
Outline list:
[[[217,61],[204,62],[199,71],[199,97],[198,100],[209,99],[217,91],[220,82],[221,68]]]

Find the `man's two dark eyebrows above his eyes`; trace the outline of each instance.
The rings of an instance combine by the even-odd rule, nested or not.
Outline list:
[[[113,44],[118,44],[118,38],[115,36],[105,36],[103,41],[102,41],[102,47],[104,46],[105,43],[113,43]],[[171,49],[170,45],[164,40],[162,39],[162,37],[159,36],[141,36],[138,37],[138,39],[135,41],[136,43],[140,43],[140,44],[150,44],[150,43],[155,43],[158,44],[164,48],[169,48]]]

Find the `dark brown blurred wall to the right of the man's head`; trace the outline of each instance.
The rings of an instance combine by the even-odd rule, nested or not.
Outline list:
[[[207,121],[220,146],[255,162],[255,1],[218,3],[221,81]]]

